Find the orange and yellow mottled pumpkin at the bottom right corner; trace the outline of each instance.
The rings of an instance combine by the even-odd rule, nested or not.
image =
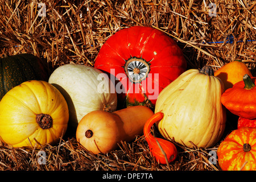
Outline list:
[[[217,150],[218,164],[224,171],[256,170],[256,129],[242,127],[221,142]]]

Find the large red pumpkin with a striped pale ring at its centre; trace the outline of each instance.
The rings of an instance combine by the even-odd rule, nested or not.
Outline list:
[[[134,26],[105,42],[94,67],[109,74],[122,104],[154,107],[158,94],[185,71],[187,63],[170,36]]]

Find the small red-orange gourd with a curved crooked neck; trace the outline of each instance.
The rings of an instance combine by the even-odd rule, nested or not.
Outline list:
[[[144,125],[143,132],[152,156],[154,156],[159,163],[167,164],[167,161],[168,163],[171,163],[177,157],[177,149],[175,145],[168,140],[155,138],[150,133],[151,126],[154,125],[155,122],[160,121],[162,118],[163,113],[161,112],[152,115],[152,117],[148,119]]]

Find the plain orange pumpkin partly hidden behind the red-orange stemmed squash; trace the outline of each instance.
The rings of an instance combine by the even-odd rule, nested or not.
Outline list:
[[[238,81],[242,81],[242,77],[245,74],[253,77],[246,64],[244,64],[240,60],[234,60],[232,62],[229,62],[228,64],[225,64],[223,67],[217,69],[217,71],[214,72],[214,76],[220,78],[221,81],[224,83],[225,90],[232,88],[233,85],[236,84]]]

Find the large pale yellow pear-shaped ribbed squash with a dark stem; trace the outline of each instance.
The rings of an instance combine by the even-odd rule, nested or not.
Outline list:
[[[210,147],[225,129],[224,85],[211,67],[189,69],[160,92],[155,113],[164,113],[158,129],[187,147]],[[192,144],[192,143],[193,144]]]

